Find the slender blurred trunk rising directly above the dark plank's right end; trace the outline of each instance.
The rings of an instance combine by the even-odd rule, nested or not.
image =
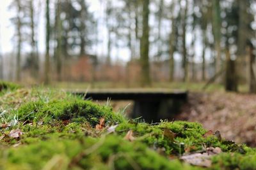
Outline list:
[[[186,20],[188,13],[188,0],[186,0],[186,6],[183,13],[183,23],[182,23],[182,50],[183,50],[183,69],[184,69],[184,78],[183,81],[188,81],[188,56],[187,56],[187,48],[186,48]]]

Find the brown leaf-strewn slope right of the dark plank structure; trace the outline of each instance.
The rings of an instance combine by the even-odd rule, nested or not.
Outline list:
[[[225,139],[256,146],[256,95],[192,92],[177,119],[200,122]]]

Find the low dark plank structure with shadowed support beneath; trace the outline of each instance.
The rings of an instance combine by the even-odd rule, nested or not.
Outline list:
[[[173,118],[180,111],[188,98],[187,91],[152,91],[152,90],[93,90],[72,92],[84,99],[98,101],[134,101],[132,118],[142,117],[145,122],[159,122],[161,119]]]

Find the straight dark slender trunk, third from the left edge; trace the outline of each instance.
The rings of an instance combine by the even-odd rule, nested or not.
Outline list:
[[[46,17],[46,49],[45,49],[45,80],[44,83],[47,85],[50,83],[50,13],[49,13],[49,0],[45,1],[45,5],[46,5],[46,13],[45,13],[45,17]]]

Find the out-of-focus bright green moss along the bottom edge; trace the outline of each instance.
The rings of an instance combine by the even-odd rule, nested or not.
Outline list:
[[[194,169],[178,160],[170,162],[141,143],[131,143],[111,135],[99,139],[84,138],[82,141],[41,141],[29,146],[10,148],[4,154],[4,164],[1,164],[4,169],[10,169],[5,165],[13,164],[19,165],[19,169],[42,169],[57,156],[63,158],[63,164],[66,165],[63,169],[134,169],[134,166],[140,169]],[[78,159],[77,155],[80,155]]]

